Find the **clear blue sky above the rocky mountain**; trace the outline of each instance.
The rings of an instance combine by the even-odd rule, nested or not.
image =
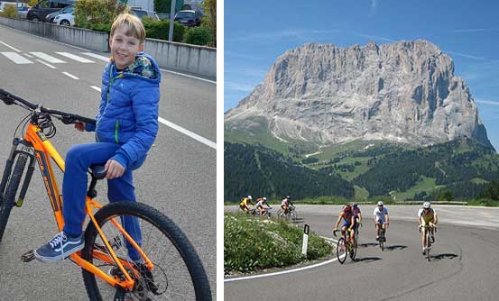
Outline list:
[[[224,111],[306,42],[340,47],[424,39],[454,59],[499,150],[499,1],[274,0],[224,3]]]

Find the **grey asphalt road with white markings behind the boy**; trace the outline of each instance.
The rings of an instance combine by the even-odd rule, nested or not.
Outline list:
[[[7,52],[10,54],[5,54]],[[50,58],[40,59],[32,52],[42,52],[65,63],[52,63]],[[57,52],[68,52],[92,62],[70,59]],[[0,26],[0,88],[33,103],[93,117],[100,102],[100,93],[95,87],[101,86],[106,62],[83,52],[91,51]],[[109,56],[109,53],[96,54]],[[23,57],[31,63],[18,64],[9,56]],[[162,71],[161,91],[159,115],[180,126],[180,130],[160,123],[148,159],[134,173],[137,199],[168,215],[186,233],[207,270],[215,296],[217,232],[212,216],[216,215],[216,208],[199,204],[217,194],[216,84]],[[2,171],[14,129],[25,115],[18,106],[0,103]],[[51,141],[63,157],[71,145],[94,141],[93,133],[81,133],[70,125],[54,123],[57,134]],[[199,137],[204,140],[200,141]],[[87,300],[78,266],[69,261],[49,265],[20,260],[23,252],[40,246],[57,233],[39,175],[39,171],[35,171],[23,207],[14,208],[0,244],[0,300]],[[60,173],[57,175],[61,184]],[[97,198],[106,203],[105,184],[100,184],[97,191],[100,192]]]

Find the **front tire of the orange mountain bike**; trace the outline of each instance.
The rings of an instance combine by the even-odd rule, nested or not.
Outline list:
[[[0,199],[0,242],[2,242],[2,238],[4,237],[11,210],[14,208],[15,195],[17,194],[17,188],[19,188],[19,184],[21,183],[21,178],[23,178],[24,167],[26,166],[27,160],[28,155],[24,153],[21,153],[17,157],[14,170],[5,187],[5,194],[2,199]]]

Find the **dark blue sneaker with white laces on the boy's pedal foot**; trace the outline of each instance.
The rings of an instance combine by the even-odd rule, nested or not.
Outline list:
[[[83,233],[79,237],[72,238],[61,232],[54,236],[50,242],[33,251],[34,257],[42,262],[58,262],[64,260],[69,255],[80,251],[85,247]]]

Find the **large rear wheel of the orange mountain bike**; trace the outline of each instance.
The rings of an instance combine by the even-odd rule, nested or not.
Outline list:
[[[123,243],[125,238],[111,221],[115,218],[116,222],[125,227],[124,221],[130,221],[130,218],[134,217],[140,225],[141,248],[154,267],[149,274],[146,274],[146,271],[142,277],[135,278],[134,290],[126,292],[125,300],[211,300],[208,278],[198,254],[180,228],[168,217],[149,205],[134,202],[105,205],[95,217],[116,255],[123,260],[130,258]],[[88,223],[82,257],[104,272],[112,274],[111,271],[116,264],[92,256],[94,248],[106,252],[104,246],[105,243],[97,233],[95,225]],[[85,269],[82,269],[82,272],[90,300],[114,298],[115,287],[109,286],[104,280],[96,278]]]

